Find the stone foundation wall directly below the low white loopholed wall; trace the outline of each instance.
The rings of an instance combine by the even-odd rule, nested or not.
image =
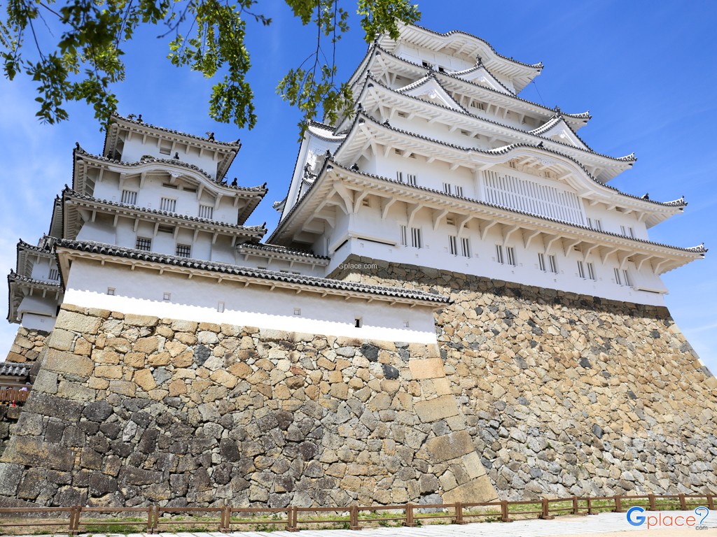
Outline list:
[[[435,345],[65,305],[0,505],[492,500],[453,392]]]

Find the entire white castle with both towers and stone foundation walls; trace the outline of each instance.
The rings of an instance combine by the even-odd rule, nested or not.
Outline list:
[[[650,241],[686,203],[609,186],[635,158],[588,147],[587,112],[518,97],[541,69],[377,39],[265,241],[238,143],[115,117],[77,145],[9,276],[34,385],[0,503],[714,493],[717,380],[660,279],[706,250]]]

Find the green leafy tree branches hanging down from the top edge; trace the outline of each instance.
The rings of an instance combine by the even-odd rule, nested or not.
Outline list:
[[[268,0],[1,1],[6,4],[0,20],[4,74],[12,80],[24,73],[37,83],[37,117],[43,122],[66,120],[65,104],[84,100],[106,124],[118,105],[113,84],[125,79],[125,46],[142,26],[156,26],[158,37],[171,37],[172,64],[218,79],[210,117],[249,128],[257,121],[247,82],[246,24],[271,23],[255,11]],[[334,82],[336,43],[348,31],[348,11],[339,6],[341,0],[285,1],[301,24],[315,25],[317,37],[315,51],[286,74],[277,92],[306,118],[323,112],[333,121],[351,100],[348,86]],[[395,39],[399,21],[411,24],[420,16],[409,0],[353,1],[358,1],[367,42],[384,32]],[[327,41],[331,57],[324,50]]]

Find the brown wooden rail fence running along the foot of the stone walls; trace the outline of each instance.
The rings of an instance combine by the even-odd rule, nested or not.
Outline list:
[[[112,526],[131,528],[146,533],[171,532],[172,528],[185,529],[187,526],[203,526],[206,530],[216,528],[228,533],[242,526],[283,526],[287,531],[299,531],[308,526],[320,524],[340,525],[360,530],[361,524],[400,523],[402,526],[418,526],[424,522],[448,520],[454,524],[465,524],[485,518],[511,522],[513,517],[551,519],[561,514],[597,515],[600,512],[623,513],[634,505],[648,511],[687,511],[705,505],[711,511],[715,495],[629,495],[591,496],[581,498],[551,498],[543,500],[494,501],[483,503],[437,503],[431,505],[407,503],[404,505],[351,505],[349,507],[286,507],[286,508],[244,508],[231,507],[54,507],[54,508],[0,508],[2,518],[14,517],[12,522],[0,522],[0,528],[26,526],[53,526],[53,531],[67,530],[72,536],[88,529],[103,532],[113,531]],[[427,513],[425,510],[434,512]],[[388,516],[378,516],[386,511]],[[333,516],[321,516],[333,513]],[[115,516],[108,520],[108,516]],[[119,516],[119,517],[118,517]],[[190,518],[185,518],[189,516]],[[258,518],[258,517],[268,518]],[[123,518],[122,518],[123,517]],[[47,531],[44,531],[47,533]]]

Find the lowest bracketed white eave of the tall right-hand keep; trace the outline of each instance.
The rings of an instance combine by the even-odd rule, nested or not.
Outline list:
[[[384,219],[388,207],[402,202],[412,208],[413,214],[422,209],[433,211],[432,214],[438,218],[433,223],[436,228],[441,218],[454,213],[462,222],[461,228],[469,226],[481,239],[485,238],[490,228],[500,225],[505,241],[519,231],[526,248],[536,237],[543,238],[543,243],[547,241],[550,245],[564,248],[566,253],[574,246],[584,245],[586,250],[600,256],[603,263],[608,256],[617,255],[621,266],[627,261],[633,261],[640,267],[650,263],[656,274],[664,274],[694,259],[703,258],[706,253],[703,246],[682,248],[627,238],[617,233],[597,231],[587,226],[357,172],[335,161],[325,165],[312,188],[280,223],[269,241],[290,245],[298,234],[310,228],[314,218],[326,218],[319,216],[323,208],[334,207],[336,211],[351,214],[360,211],[361,204],[357,200],[364,199],[367,194],[381,198]]]

